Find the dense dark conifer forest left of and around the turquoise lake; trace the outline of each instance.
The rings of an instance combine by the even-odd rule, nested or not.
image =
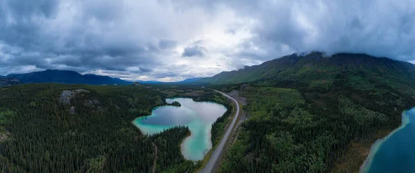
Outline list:
[[[62,98],[64,90],[71,98]],[[226,103],[218,94],[203,93],[194,98]],[[143,86],[0,88],[1,171],[151,172],[155,158],[156,172],[192,171],[196,165],[180,152],[190,132],[186,127],[145,136],[131,123],[165,104],[165,96]]]

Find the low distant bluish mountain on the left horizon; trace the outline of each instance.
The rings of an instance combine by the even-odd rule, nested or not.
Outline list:
[[[89,85],[128,85],[129,81],[118,78],[99,76],[95,74],[79,74],[68,70],[45,70],[42,72],[30,72],[25,74],[9,74],[8,78],[16,78],[24,83],[83,83]]]

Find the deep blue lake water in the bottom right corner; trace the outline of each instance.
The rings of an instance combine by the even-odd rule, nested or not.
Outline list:
[[[415,108],[403,112],[402,125],[376,141],[362,172],[415,172]]]

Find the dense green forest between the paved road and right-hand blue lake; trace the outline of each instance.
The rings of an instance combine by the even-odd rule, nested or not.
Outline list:
[[[413,97],[387,86],[359,90],[339,77],[334,87],[230,85],[246,97],[248,120],[219,172],[358,172],[371,143],[400,125]]]

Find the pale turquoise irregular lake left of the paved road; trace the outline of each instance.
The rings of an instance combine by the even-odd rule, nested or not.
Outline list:
[[[192,99],[166,99],[167,103],[178,101],[180,107],[174,105],[159,106],[151,115],[142,116],[133,121],[144,134],[163,132],[176,125],[187,125],[192,133],[182,145],[181,152],[185,159],[202,160],[212,148],[210,130],[212,123],[226,112],[223,105],[213,102],[196,102]]]

